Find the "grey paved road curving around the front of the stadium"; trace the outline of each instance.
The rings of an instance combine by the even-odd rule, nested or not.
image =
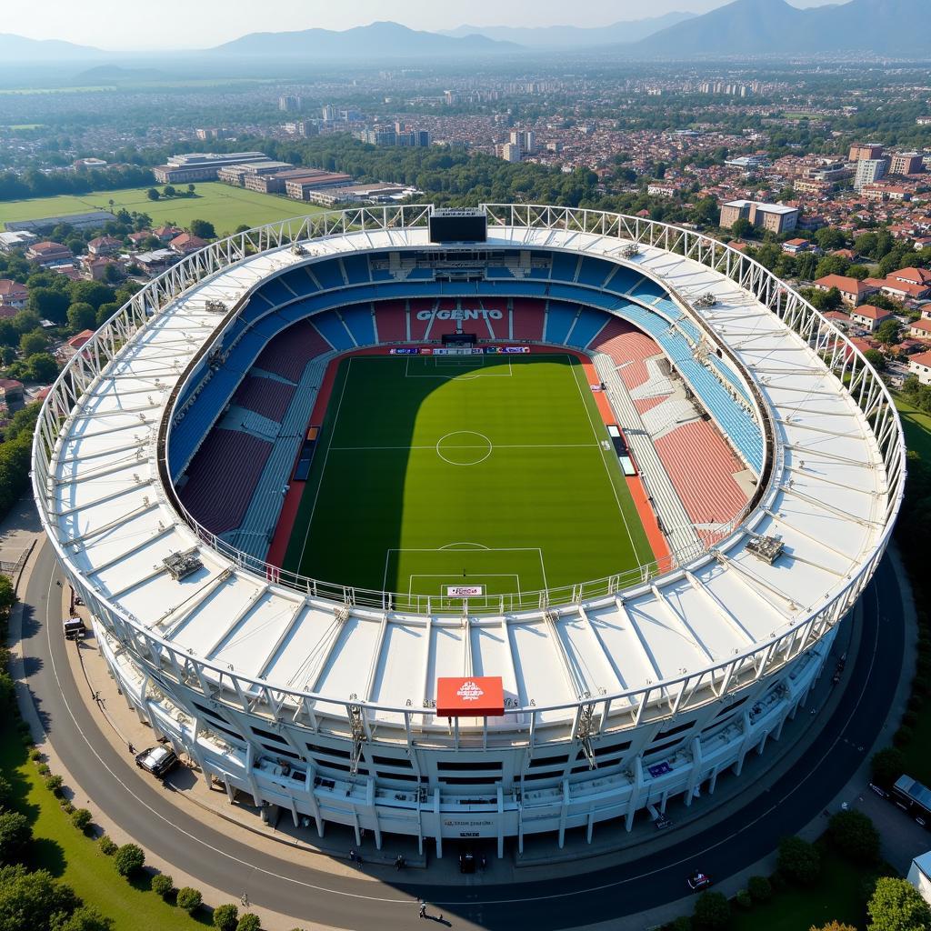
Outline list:
[[[62,762],[129,834],[177,869],[257,905],[337,927],[394,929],[412,923],[415,884],[359,882],[257,851],[208,826],[177,821],[164,790],[139,776],[101,734],[79,695],[61,638],[61,597],[51,546],[35,557],[24,601],[23,647],[36,707]],[[882,592],[882,602],[880,598]],[[821,738],[789,775],[735,815],[692,838],[670,836],[668,856],[585,876],[509,885],[428,887],[431,903],[456,928],[539,931],[608,921],[681,897],[683,877],[700,867],[725,877],[766,856],[780,836],[801,830],[830,803],[862,762],[883,726],[904,654],[897,580],[884,560],[864,595],[861,649],[839,706]],[[86,686],[85,686],[86,687]],[[293,856],[293,855],[290,855]],[[402,874],[407,878],[407,874]],[[423,887],[421,887],[423,888]]]

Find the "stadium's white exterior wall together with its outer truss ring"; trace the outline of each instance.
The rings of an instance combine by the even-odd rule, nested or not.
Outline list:
[[[638,810],[663,810],[679,795],[691,803],[696,790],[713,791],[719,775],[728,769],[739,773],[751,750],[762,752],[771,737],[778,738],[823,668],[838,624],[883,557],[904,484],[901,429],[879,376],[814,307],[762,266],[716,240],[597,211],[488,208],[491,223],[616,236],[688,256],[731,278],[802,335],[870,418],[889,488],[880,544],[828,603],[818,604],[789,633],[757,644],[752,654],[623,695],[585,696],[568,708],[508,708],[511,726],[506,734],[487,727],[461,734],[458,727],[433,720],[429,708],[385,708],[290,692],[193,658],[102,596],[74,565],[68,542],[57,532],[50,466],[62,431],[88,387],[150,317],[192,283],[255,252],[367,226],[423,226],[427,210],[357,209],[271,224],[215,243],[155,279],[72,359],[45,402],[34,440],[34,493],[40,516],[65,573],[93,614],[99,648],[130,706],[196,760],[205,779],[223,784],[231,801],[238,789],[256,804],[281,805],[295,824],[304,816],[313,819],[321,833],[325,823],[333,821],[357,832],[371,830],[379,845],[385,832],[411,834],[422,843],[436,839],[439,853],[444,838],[461,836],[496,838],[499,849],[506,837],[522,842],[525,834],[542,831],[557,831],[561,843],[565,830],[576,827],[586,828],[590,839],[595,823],[621,816],[629,830]],[[600,732],[598,722],[616,722],[622,704],[630,708],[627,726]],[[552,711],[565,712],[562,717],[569,725],[547,722],[544,712]],[[376,712],[382,716],[377,729],[371,723]],[[236,747],[224,738],[223,722],[231,730],[243,730],[245,724],[246,733],[262,730],[267,735],[264,744],[256,740]],[[649,748],[659,754],[664,742],[657,743],[657,737],[668,734],[672,746],[681,738],[671,737],[685,732],[695,736],[674,751],[675,766],[661,774],[657,790],[660,780],[647,777],[652,764],[643,752]],[[589,770],[586,745],[599,768]],[[359,770],[366,773],[356,776],[348,760],[359,748]],[[260,761],[260,756],[266,759]],[[269,762],[270,756],[280,762]],[[330,762],[321,765],[321,758]],[[558,762],[550,764],[551,760]],[[482,788],[474,793],[452,789],[442,776],[441,764],[464,761],[481,774],[475,778]],[[376,768],[378,778],[371,776]],[[345,776],[340,776],[343,771]],[[538,775],[543,778],[534,778]],[[497,784],[493,792],[487,788],[491,783]],[[337,784],[344,790],[336,791]],[[464,785],[460,778],[459,786]]]

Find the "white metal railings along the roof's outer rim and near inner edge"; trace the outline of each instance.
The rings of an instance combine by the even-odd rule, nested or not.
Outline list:
[[[644,710],[657,701],[668,706],[669,713],[674,713],[687,705],[689,699],[703,686],[709,686],[716,695],[725,695],[738,682],[748,677],[759,679],[776,666],[794,659],[820,639],[853,607],[863,587],[869,582],[879,560],[882,559],[898,508],[901,505],[906,463],[904,437],[895,404],[883,380],[870,367],[857,346],[852,344],[830,321],[822,317],[816,308],[806,302],[801,295],[789,289],[760,263],[730,249],[716,239],[666,223],[598,210],[500,204],[487,205],[486,209],[492,228],[498,225],[528,229],[560,229],[617,238],[620,242],[633,241],[641,245],[675,252],[729,277],[741,288],[751,292],[776,317],[798,333],[822,358],[826,367],[837,376],[840,384],[845,386],[845,390],[856,400],[870,425],[883,457],[886,475],[884,530],[879,541],[870,553],[865,555],[857,570],[851,574],[839,592],[812,610],[807,617],[788,631],[773,636],[768,641],[754,644],[745,653],[730,656],[695,673],[687,673],[678,678],[654,682],[639,689],[627,690],[614,695],[599,695],[590,698],[585,696],[573,704],[546,708],[510,707],[506,708],[506,715],[529,715],[532,719],[531,724],[533,724],[538,720],[538,715],[545,710],[558,711],[574,708],[576,713],[580,713],[583,705],[596,705],[600,708],[603,721],[607,719],[614,704],[617,708],[625,709],[631,722],[640,723]],[[59,559],[86,596],[92,610],[99,616],[107,617],[121,641],[134,649],[144,665],[157,669],[159,675],[168,676],[169,679],[185,685],[199,685],[204,692],[208,693],[214,691],[216,683],[219,683],[224,689],[229,689],[230,695],[237,696],[235,700],[243,710],[253,714],[256,713],[257,700],[260,700],[263,706],[272,709],[269,713],[273,716],[277,714],[274,709],[280,709],[282,704],[287,702],[291,708],[298,708],[298,714],[304,714],[306,720],[312,724],[316,721],[317,714],[326,715],[326,712],[321,712],[319,709],[331,708],[332,713],[339,714],[345,720],[349,708],[355,705],[363,706],[371,712],[397,714],[410,736],[412,727],[417,722],[425,720],[423,716],[430,718],[435,715],[432,708],[386,707],[358,699],[341,701],[299,689],[272,686],[177,649],[169,641],[145,627],[138,618],[84,583],[80,568],[74,565],[65,546],[62,545],[66,541],[58,538],[54,506],[55,481],[53,479],[56,449],[80,398],[133,337],[149,324],[152,317],[157,317],[164,307],[181,296],[185,290],[197,282],[204,281],[248,259],[250,255],[263,250],[296,244],[308,238],[344,235],[363,230],[422,228],[426,225],[429,210],[429,206],[415,205],[333,211],[280,223],[270,223],[213,243],[155,278],[127,304],[124,304],[101,327],[101,330],[88,340],[82,351],[68,362],[49,391],[38,417],[33,444],[33,488],[43,526],[58,552]],[[309,254],[313,254],[313,243],[305,245]],[[777,451],[776,455],[778,455]],[[262,574],[265,578],[290,584],[291,587],[304,588],[310,595],[319,598],[338,600],[348,605],[367,603],[364,598],[360,598],[365,593],[358,589],[342,586],[327,587],[324,583],[313,580],[298,581],[299,577],[291,577],[288,573],[282,573],[277,567],[270,566],[263,560],[255,560],[234,547],[228,546],[214,534],[199,527],[196,521],[193,521],[183,510],[179,513],[201,539],[243,569]],[[752,519],[752,517],[742,512],[738,515],[738,520],[743,519]],[[733,528],[730,529],[736,530],[737,527],[738,525],[734,523]],[[726,525],[724,530],[728,530]],[[726,544],[722,546],[722,549],[726,548]],[[681,564],[685,560],[693,560],[701,555],[700,552],[681,553],[670,557],[668,561],[663,560],[650,566],[641,566],[630,573],[621,573],[596,582],[535,593],[537,603],[528,604],[526,600],[521,599],[510,601],[503,607],[506,611],[535,609],[594,599],[604,595],[610,596],[622,587],[642,583],[653,574],[668,572],[675,568],[676,564]],[[712,553],[712,556],[714,555]],[[377,597],[372,600],[371,606],[383,610],[387,608],[404,610],[403,600],[397,599],[408,598],[408,596],[391,596],[385,592],[375,594]],[[422,604],[419,600],[411,605],[412,610],[423,606],[425,602]],[[500,601],[495,604],[495,610],[501,607]],[[470,603],[469,611],[472,610],[473,606]],[[207,676],[215,683],[213,689],[208,686],[205,679]],[[368,728],[369,717],[364,717],[363,721]],[[487,723],[485,726],[487,727]]]

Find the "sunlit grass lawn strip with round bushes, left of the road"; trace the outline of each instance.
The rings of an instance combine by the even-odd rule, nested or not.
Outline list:
[[[156,896],[149,890],[148,876],[133,884],[123,879],[110,857],[104,857],[61,811],[34,762],[26,757],[20,735],[9,728],[0,731],[0,769],[13,786],[16,807],[33,822],[31,865],[48,870],[86,904],[113,918],[115,931],[194,931],[209,924],[206,912],[198,913],[200,920],[189,918]]]

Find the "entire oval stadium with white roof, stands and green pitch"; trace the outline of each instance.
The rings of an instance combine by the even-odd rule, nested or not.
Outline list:
[[[777,740],[905,452],[857,347],[715,239],[404,206],[156,278],[62,372],[33,466],[130,707],[231,803],[500,856]]]

